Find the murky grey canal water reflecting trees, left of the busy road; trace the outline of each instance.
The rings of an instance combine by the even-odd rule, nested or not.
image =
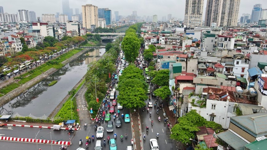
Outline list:
[[[111,42],[111,41],[110,41]],[[102,45],[105,45],[103,43]],[[89,49],[80,57],[74,59],[45,80],[31,87],[27,93],[10,100],[2,107],[1,113],[49,116],[68,92],[82,79],[87,72],[87,65],[97,61],[105,53],[105,49]],[[92,57],[96,56],[96,57]],[[51,81],[58,82],[48,86]]]

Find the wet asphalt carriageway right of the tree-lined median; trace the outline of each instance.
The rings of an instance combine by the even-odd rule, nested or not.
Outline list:
[[[149,83],[150,87],[150,83]],[[155,90],[154,87],[150,89],[151,93],[148,94],[151,97],[151,102],[153,104],[153,108],[149,107],[149,112],[152,113],[151,116],[149,116],[149,112],[145,110],[144,112],[142,109],[139,111],[140,113],[140,120],[141,120],[141,133],[142,133],[142,138],[145,134],[145,141],[143,141],[143,148],[145,149],[150,149],[150,139],[157,139],[159,148],[160,149],[165,149],[165,150],[173,150],[175,148],[175,142],[174,140],[171,140],[169,138],[169,135],[171,134],[170,130],[167,127],[167,124],[164,124],[164,118],[163,117],[163,109],[159,109],[159,114],[157,114],[157,106],[154,107],[154,102],[156,100],[156,97],[152,97],[152,92]],[[146,101],[146,104],[149,102],[149,100]],[[160,104],[159,100],[157,101],[157,105]],[[148,105],[146,105],[147,107]],[[158,117],[161,117],[161,122],[158,121]],[[153,125],[151,125],[151,120],[153,120]],[[146,126],[149,127],[149,131],[146,132]],[[157,138],[157,132],[159,133],[159,138]]]

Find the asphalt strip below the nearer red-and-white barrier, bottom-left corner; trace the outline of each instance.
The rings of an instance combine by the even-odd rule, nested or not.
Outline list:
[[[15,142],[15,141],[4,141],[1,140],[0,149],[59,149],[62,145],[56,144],[41,144],[41,143],[26,143],[26,142]],[[65,145],[66,146],[66,145]]]

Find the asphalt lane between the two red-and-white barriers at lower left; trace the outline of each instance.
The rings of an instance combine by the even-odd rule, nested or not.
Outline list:
[[[54,130],[53,129],[47,129],[47,128],[28,128],[28,127],[9,127],[4,126],[0,128],[2,136],[8,136],[8,137],[18,137],[18,138],[29,138],[29,139],[35,139],[36,134],[37,139],[45,139],[50,140],[50,132],[52,136],[52,140],[60,140],[60,141],[69,141],[69,134],[66,130]],[[76,131],[74,131],[76,132]],[[70,136],[73,136],[73,133],[70,133]]]

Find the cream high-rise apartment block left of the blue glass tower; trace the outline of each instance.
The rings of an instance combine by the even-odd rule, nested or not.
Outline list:
[[[91,29],[91,26],[98,27],[98,7],[92,4],[82,5],[83,27]]]

